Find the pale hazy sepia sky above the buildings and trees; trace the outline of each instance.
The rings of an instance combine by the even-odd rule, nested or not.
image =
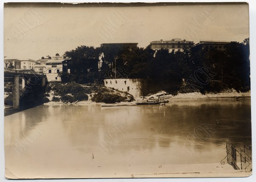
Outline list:
[[[29,7],[4,9],[4,56],[38,60],[77,46],[172,38],[242,42],[247,5]]]

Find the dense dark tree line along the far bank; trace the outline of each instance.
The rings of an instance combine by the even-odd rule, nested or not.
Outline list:
[[[157,51],[151,48],[129,48],[111,45],[94,48],[80,46],[66,51],[70,73],[61,73],[63,82],[100,83],[106,77],[123,78],[114,68],[125,70],[127,78],[143,78],[171,83],[170,91],[185,91],[189,80],[196,85],[195,73],[207,84],[190,87],[186,91],[219,92],[227,89],[250,90],[249,38],[242,43],[231,42],[225,50],[202,48],[202,44],[183,51]],[[201,68],[201,70],[200,70]],[[202,69],[203,68],[203,69]],[[199,70],[199,71],[198,71]],[[211,71],[211,77],[200,71]],[[196,72],[197,71],[197,72]],[[198,74],[199,73],[199,74]],[[213,76],[214,75],[214,76]],[[197,79],[199,80],[199,79]]]

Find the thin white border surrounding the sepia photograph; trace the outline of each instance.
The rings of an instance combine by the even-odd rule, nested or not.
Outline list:
[[[3,61],[3,3],[7,2],[28,2],[30,3],[31,0],[4,0],[0,5],[0,55],[1,60]],[[42,2],[42,0],[33,0],[33,2]],[[61,2],[61,3],[77,3],[78,0],[46,0],[44,2]],[[117,0],[117,1],[106,1],[106,0],[94,0],[94,1],[83,1],[81,3],[93,3],[93,2],[111,2],[111,3],[137,3],[136,0]],[[195,0],[145,0],[140,1],[145,3],[156,3],[156,2],[195,2]],[[199,2],[214,2],[214,0],[196,0],[197,3]],[[215,2],[242,2],[238,0],[217,0]],[[256,146],[256,136],[254,131],[256,130],[256,1],[255,0],[247,0],[249,3],[249,17],[250,17],[250,73],[251,73],[251,114],[252,114],[252,146]],[[0,64],[0,69],[3,70],[3,64]],[[3,78],[3,71],[0,72],[1,78]],[[11,182],[14,180],[6,179],[5,174],[5,164],[4,164],[4,103],[3,103],[3,88],[4,88],[4,80],[0,79],[0,108],[1,108],[1,123],[0,123],[0,182]],[[253,166],[255,166],[255,155],[256,149],[253,147]],[[43,176],[43,174],[42,174]],[[17,182],[17,180],[15,180]],[[48,179],[24,179],[22,182],[47,182]],[[147,178],[147,179],[51,179],[53,182],[255,182],[256,181],[256,174],[253,170],[253,175],[249,177],[243,178]]]

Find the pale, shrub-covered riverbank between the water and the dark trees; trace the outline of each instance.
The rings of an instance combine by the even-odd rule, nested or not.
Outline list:
[[[74,86],[74,83],[72,83]],[[115,102],[132,102],[134,100],[141,101],[142,97],[132,97],[132,95],[121,92],[111,88],[98,87],[98,86],[85,86],[75,84],[75,89],[66,91],[67,84],[58,83],[58,91],[55,88],[56,83],[50,85],[51,89],[48,90],[48,100],[50,102],[44,103],[45,105],[58,105],[58,104],[102,104],[102,103],[115,103]],[[76,89],[78,91],[76,92]],[[61,91],[59,91],[61,90]],[[81,97],[81,94],[86,97]],[[63,99],[64,98],[64,99]],[[68,98],[68,99],[67,99]],[[78,98],[78,99],[77,99]],[[199,92],[191,93],[178,93],[177,95],[171,95],[165,91],[159,91],[154,94],[148,94],[144,97],[146,99],[164,99],[169,102],[189,102],[196,100],[244,100],[250,99],[250,91],[242,93],[237,91],[223,91],[220,93],[207,93],[201,94]]]

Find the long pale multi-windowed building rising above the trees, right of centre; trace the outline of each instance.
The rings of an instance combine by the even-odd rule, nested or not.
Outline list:
[[[156,40],[152,41],[147,47],[153,50],[168,49],[169,52],[183,51],[185,48],[191,48],[194,45],[193,41],[187,41],[182,39],[171,39],[171,40]]]

